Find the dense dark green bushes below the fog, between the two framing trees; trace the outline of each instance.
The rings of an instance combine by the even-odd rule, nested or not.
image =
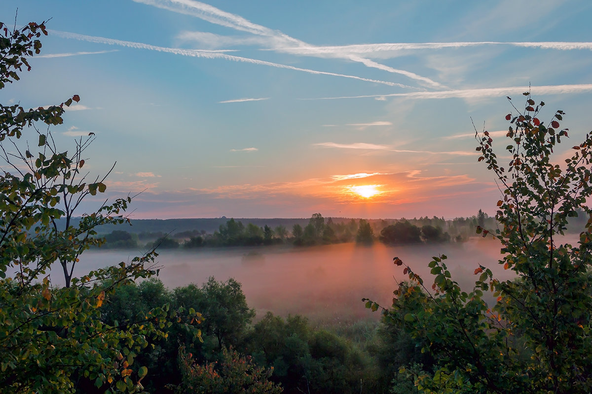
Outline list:
[[[412,392],[413,383],[399,376],[399,367],[430,365],[413,340],[386,320],[358,322],[344,330],[340,325],[315,328],[301,315],[284,318],[267,312],[254,323],[255,310],[234,279],[209,278],[201,286],[172,290],[158,279],[128,284],[105,298],[102,321],[142,320],[152,308],[167,304],[171,310],[201,312],[203,342],[174,322],[168,339],[151,341],[136,359],[149,370],[142,382],[148,392],[172,393],[189,383],[223,392],[229,381],[245,374],[253,376],[250,384],[269,379],[269,386],[281,385],[284,393],[387,393],[393,387]],[[188,368],[191,362],[197,366]],[[246,364],[250,368],[244,370]],[[213,370],[227,375],[214,380]]]

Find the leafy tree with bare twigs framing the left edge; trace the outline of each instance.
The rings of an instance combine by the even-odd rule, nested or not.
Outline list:
[[[0,23],[0,89],[20,79],[27,58],[40,53],[38,38],[45,22],[10,31]],[[130,263],[91,271],[81,277],[74,268],[81,253],[104,240],[95,239],[102,224],[124,223],[131,197],[73,217],[81,201],[104,193],[105,177],[83,174],[83,152],[94,136],[81,138],[69,151],[54,143],[50,126],[63,123],[64,107],[73,95],[47,108],[25,110],[0,105],[0,387],[3,393],[62,393],[141,390],[146,367],[133,365],[150,337],[165,337],[166,307],[141,321],[101,322],[101,307],[114,289],[156,273],[156,254]],[[23,142],[33,138],[35,145]],[[79,213],[78,213],[79,214]],[[64,286],[52,286],[50,267],[62,269]],[[54,271],[54,275],[56,275]],[[59,275],[59,274],[58,274]]]

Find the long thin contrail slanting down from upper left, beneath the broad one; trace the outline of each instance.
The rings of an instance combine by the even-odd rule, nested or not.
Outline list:
[[[408,87],[408,86],[405,86],[400,83],[363,78],[363,77],[358,77],[358,76],[348,75],[348,74],[329,73],[327,71],[301,69],[300,67],[287,66],[286,64],[272,63],[271,61],[264,61],[264,60],[257,60],[257,59],[248,58],[248,57],[227,55],[227,54],[220,53],[217,51],[158,47],[156,45],[134,43],[133,41],[114,40],[112,38],[95,37],[92,35],[76,34],[76,33],[70,33],[70,32],[66,32],[66,31],[52,30],[52,32],[53,32],[53,34],[59,35],[59,37],[72,38],[74,40],[81,40],[81,41],[88,41],[89,43],[120,45],[122,47],[172,53],[172,54],[182,55],[182,56],[203,57],[203,58],[209,58],[209,59],[222,58],[222,59],[231,60],[231,61],[239,61],[242,63],[260,64],[262,66],[277,67],[278,69],[303,71],[303,72],[309,73],[309,74],[329,75],[329,76],[334,76],[334,77],[350,78],[350,79],[361,80],[364,82],[380,83],[380,84],[384,84],[387,86]]]

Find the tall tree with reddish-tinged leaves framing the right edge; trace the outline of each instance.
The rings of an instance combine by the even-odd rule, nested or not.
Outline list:
[[[577,246],[558,239],[578,209],[590,217],[592,137],[572,148],[565,166],[554,164],[567,129],[555,112],[545,125],[529,93],[526,108],[510,113],[506,154],[501,167],[493,138],[477,133],[481,156],[503,188],[496,220],[501,229],[477,228],[502,245],[499,264],[516,278],[499,281],[477,266],[475,287],[461,289],[448,271],[446,256],[429,263],[432,291],[405,265],[410,282],[401,283],[385,315],[403,327],[434,359],[416,376],[420,390],[466,393],[588,393],[592,390],[591,276],[592,221]],[[395,258],[396,265],[404,263]],[[497,301],[488,305],[483,292]],[[376,310],[372,301],[366,306]]]

